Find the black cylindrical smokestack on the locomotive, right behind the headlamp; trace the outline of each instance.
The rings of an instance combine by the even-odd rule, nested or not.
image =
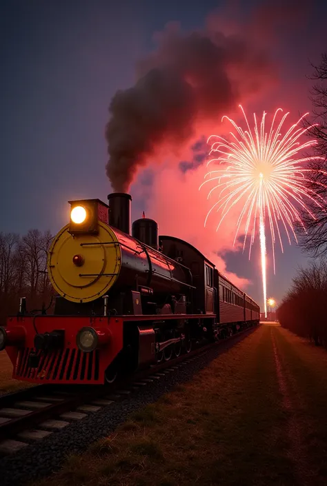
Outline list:
[[[127,234],[130,234],[130,201],[132,196],[126,192],[108,194],[109,224]]]

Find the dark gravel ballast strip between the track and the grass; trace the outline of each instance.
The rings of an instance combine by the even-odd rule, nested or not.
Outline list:
[[[53,432],[39,443],[23,448],[13,456],[0,458],[1,485],[23,485],[57,471],[68,455],[81,454],[90,444],[111,434],[118,425],[126,421],[129,414],[154,403],[175,385],[189,381],[210,361],[246,338],[255,329],[256,327],[221,342],[205,354],[193,358],[190,363],[182,365],[175,372],[161,376],[159,380],[140,387],[122,401],[103,407],[99,412],[91,413],[81,421],[70,423],[60,432]]]

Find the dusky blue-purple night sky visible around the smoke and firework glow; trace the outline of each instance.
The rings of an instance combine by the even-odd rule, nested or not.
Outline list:
[[[235,2],[235,16],[246,19],[261,3]],[[179,21],[185,30],[200,28],[221,6],[213,0],[0,2],[0,230],[57,232],[68,218],[66,201],[106,201],[111,189],[104,130],[110,99],[135,82],[135,62],[151,50],[155,31],[168,21]],[[253,110],[275,110],[280,104],[295,117],[310,110],[306,75],[309,59],[316,62],[327,50],[326,19],[327,2],[316,2],[304,18],[293,22],[291,16],[286,28],[274,32],[270,51],[280,66],[279,85]],[[134,216],[150,205],[136,197],[133,203]],[[230,272],[251,279],[247,291],[261,302],[257,256],[250,263],[246,254],[225,259]],[[277,250],[269,294],[280,299],[296,267],[306,261],[295,245],[285,245],[284,254]]]

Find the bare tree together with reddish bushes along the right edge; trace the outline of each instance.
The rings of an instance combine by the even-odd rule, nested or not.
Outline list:
[[[308,201],[310,212],[300,210],[306,232],[299,225],[297,233],[299,246],[315,260],[299,269],[277,316],[283,327],[327,347],[327,53],[313,68],[313,120],[303,123],[310,139],[317,141],[313,150],[319,159],[308,165],[306,186],[308,194],[318,194],[321,206]]]

